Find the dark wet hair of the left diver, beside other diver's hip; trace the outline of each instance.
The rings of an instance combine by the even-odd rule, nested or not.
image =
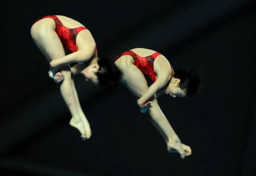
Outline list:
[[[95,73],[99,86],[116,87],[122,79],[122,71],[108,58],[98,58],[99,70]]]

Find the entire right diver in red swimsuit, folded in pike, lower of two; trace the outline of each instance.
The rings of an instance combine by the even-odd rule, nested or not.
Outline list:
[[[167,150],[171,153],[180,153],[181,158],[191,155],[191,148],[181,143],[160,109],[157,97],[163,93],[173,98],[195,95],[201,84],[199,75],[192,70],[184,69],[174,73],[169,61],[150,49],[131,49],[118,55],[114,61],[122,70],[122,83],[139,98],[137,104],[140,111],[149,113],[152,123],[166,141]],[[55,80],[58,74],[55,75]],[[150,87],[144,75],[154,82]]]

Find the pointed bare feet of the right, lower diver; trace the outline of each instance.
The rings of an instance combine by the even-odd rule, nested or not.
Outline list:
[[[186,156],[189,156],[192,154],[192,150],[189,146],[180,143],[180,141],[170,141],[167,144],[167,150],[170,153],[180,153],[180,158],[185,159]]]

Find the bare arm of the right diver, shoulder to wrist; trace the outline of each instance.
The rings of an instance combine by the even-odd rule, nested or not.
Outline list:
[[[155,81],[145,92],[145,94],[138,99],[137,104],[143,105],[151,97],[153,97],[157,91],[162,89],[168,84],[169,80],[172,77],[172,67],[169,61],[161,56],[154,61],[154,71],[157,73],[157,81]]]

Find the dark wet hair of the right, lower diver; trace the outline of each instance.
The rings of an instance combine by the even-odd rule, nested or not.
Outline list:
[[[179,87],[185,90],[186,96],[193,96],[201,85],[201,78],[195,70],[179,69],[174,74],[174,78],[180,79]]]

